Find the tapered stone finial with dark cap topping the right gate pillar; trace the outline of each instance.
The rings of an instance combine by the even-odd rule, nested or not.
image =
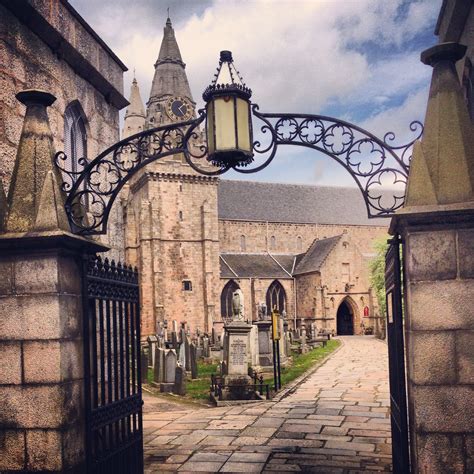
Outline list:
[[[415,206],[474,200],[474,128],[455,62],[466,47],[442,43],[421,54],[433,66],[424,133],[415,144],[408,177],[405,211]]]

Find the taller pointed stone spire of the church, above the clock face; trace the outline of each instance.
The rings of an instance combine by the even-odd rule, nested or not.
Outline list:
[[[184,98],[194,106],[185,67],[171,20],[168,17],[163,29],[163,40],[158,59],[155,62],[155,75],[151,85],[150,99],[147,103],[149,126],[157,126],[169,121],[170,118],[163,115],[164,108],[160,106],[160,103],[164,105],[170,98]]]

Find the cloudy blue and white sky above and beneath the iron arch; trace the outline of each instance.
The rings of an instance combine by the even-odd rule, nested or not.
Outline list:
[[[218,63],[233,52],[237,68],[265,112],[339,117],[403,142],[423,120],[430,68],[420,52],[437,38],[441,0],[70,0],[129,67],[144,102],[163,36],[167,8],[198,106]],[[300,147],[281,149],[258,181],[350,185],[330,158]]]

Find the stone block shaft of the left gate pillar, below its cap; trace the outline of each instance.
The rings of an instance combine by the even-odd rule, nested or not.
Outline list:
[[[84,460],[81,268],[13,252],[0,258],[0,472],[70,472]]]

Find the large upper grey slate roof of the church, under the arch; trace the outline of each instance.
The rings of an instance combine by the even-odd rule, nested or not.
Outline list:
[[[369,219],[358,188],[258,183],[222,179],[219,219],[315,224],[382,225]]]

